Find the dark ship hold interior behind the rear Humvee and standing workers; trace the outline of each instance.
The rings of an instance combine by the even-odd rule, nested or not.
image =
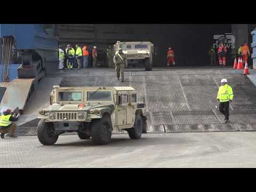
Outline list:
[[[213,35],[231,33],[231,25],[212,24],[94,24],[59,25],[59,41],[62,48],[69,43],[97,45],[104,53],[108,45],[116,41],[149,41],[154,44],[154,66],[166,66],[166,51],[173,47],[177,66],[208,66],[208,51],[213,45]],[[230,50],[228,50],[230,55]],[[231,57],[227,57],[231,66]]]

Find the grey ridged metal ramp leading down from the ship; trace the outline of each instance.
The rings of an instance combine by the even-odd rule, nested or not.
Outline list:
[[[114,69],[113,69],[114,70]],[[117,81],[113,70],[59,73],[60,86],[132,86],[138,101],[145,98],[148,133],[256,131],[256,87],[239,71],[185,69],[125,71],[125,82]],[[54,74],[51,74],[54,76]],[[57,76],[58,76],[57,75]],[[76,76],[75,76],[76,75]],[[220,79],[227,78],[235,99],[230,103],[230,123],[215,109]],[[38,123],[38,122],[37,122]],[[22,134],[36,121],[18,127]],[[122,134],[126,131],[116,131]]]

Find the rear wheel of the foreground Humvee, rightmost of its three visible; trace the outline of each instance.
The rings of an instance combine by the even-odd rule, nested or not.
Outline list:
[[[129,137],[131,139],[140,139],[142,134],[142,127],[143,127],[142,118],[139,114],[137,114],[135,117],[135,122],[133,127],[130,129],[127,129]]]

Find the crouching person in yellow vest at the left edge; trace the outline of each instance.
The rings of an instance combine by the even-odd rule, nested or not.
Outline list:
[[[14,138],[14,133],[16,130],[17,125],[12,123],[19,119],[20,114],[18,115],[11,115],[11,110],[6,109],[3,115],[0,116],[0,133],[1,138],[4,139],[4,134],[9,132],[9,137]]]

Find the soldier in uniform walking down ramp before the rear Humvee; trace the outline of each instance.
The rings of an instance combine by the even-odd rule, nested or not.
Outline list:
[[[119,78],[121,79],[121,82],[124,82],[124,66],[127,58],[125,54],[123,53],[122,49],[119,49],[118,53],[114,56],[114,63],[116,65],[116,76],[119,81]]]

